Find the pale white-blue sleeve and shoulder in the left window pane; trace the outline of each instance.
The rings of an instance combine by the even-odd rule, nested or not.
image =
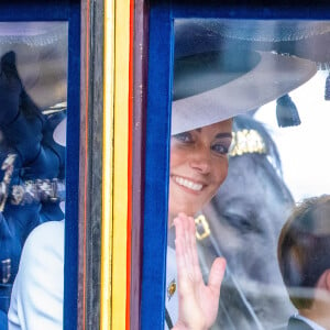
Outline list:
[[[14,280],[9,330],[62,330],[64,220],[38,226],[29,235]]]

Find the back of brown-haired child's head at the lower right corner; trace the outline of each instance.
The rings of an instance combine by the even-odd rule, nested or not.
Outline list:
[[[298,314],[288,330],[330,329],[330,196],[308,198],[278,239],[278,263]]]

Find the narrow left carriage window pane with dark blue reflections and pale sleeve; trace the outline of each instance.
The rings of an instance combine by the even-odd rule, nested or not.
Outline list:
[[[0,328],[62,329],[67,23],[1,22],[0,56]]]

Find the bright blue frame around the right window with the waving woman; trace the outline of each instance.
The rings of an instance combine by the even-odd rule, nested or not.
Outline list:
[[[141,329],[164,328],[175,19],[329,20],[322,1],[150,1]]]

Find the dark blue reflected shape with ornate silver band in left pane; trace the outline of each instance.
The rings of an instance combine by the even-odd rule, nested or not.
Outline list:
[[[66,112],[42,113],[24,90],[14,52],[1,57],[0,105],[0,328],[6,329],[11,288],[28,235],[42,222],[64,218],[59,198],[43,200],[40,190],[30,191],[29,187],[40,188],[43,182],[51,187],[46,180],[64,180],[65,147],[55,143],[53,131]],[[10,166],[3,166],[9,160]],[[29,194],[11,196],[23,191],[20,187]]]

